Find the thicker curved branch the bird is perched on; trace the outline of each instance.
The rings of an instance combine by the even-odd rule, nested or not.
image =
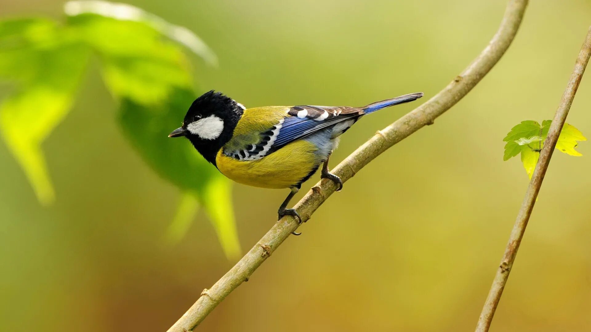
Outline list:
[[[441,92],[423,105],[402,116],[387,128],[378,131],[369,141],[356,149],[341,162],[333,172],[343,182],[349,180],[361,168],[378,157],[392,145],[413,134],[455,105],[492,69],[513,41],[528,0],[510,0],[501,25],[478,57],[459,76]],[[313,188],[295,206],[303,221],[324,203],[335,191],[333,181],[324,179]],[[298,227],[293,217],[283,217],[271,227],[271,230],[259,240],[248,253],[233,266],[212,288],[204,289],[201,297],[189,311],[183,315],[168,332],[192,331],[203,319],[265,261],[281,243]]]

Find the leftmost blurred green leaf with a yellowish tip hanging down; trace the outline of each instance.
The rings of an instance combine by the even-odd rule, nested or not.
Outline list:
[[[66,116],[89,50],[43,19],[0,22],[0,76],[17,90],[0,106],[2,138],[25,171],[38,200],[55,197],[41,144]]]

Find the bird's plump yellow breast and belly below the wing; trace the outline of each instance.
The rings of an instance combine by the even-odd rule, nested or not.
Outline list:
[[[239,161],[217,152],[217,169],[230,180],[261,188],[289,188],[296,185],[322,162],[317,148],[300,140],[258,160]]]

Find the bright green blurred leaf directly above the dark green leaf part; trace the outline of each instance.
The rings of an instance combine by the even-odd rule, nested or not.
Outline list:
[[[151,105],[168,98],[174,88],[191,86],[189,62],[180,47],[150,26],[89,14],[72,17],[70,23],[99,52],[103,77],[116,97]]]

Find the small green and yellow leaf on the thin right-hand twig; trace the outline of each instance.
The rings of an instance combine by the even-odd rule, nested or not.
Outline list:
[[[522,121],[519,125],[511,128],[511,131],[503,139],[507,142],[505,145],[505,154],[503,160],[508,160],[511,157],[515,157],[521,152],[521,162],[527,172],[528,177],[534,174],[535,164],[540,158],[540,150],[544,147],[544,140],[548,135],[552,121],[544,120],[542,125],[535,121]],[[580,156],[578,151],[574,148],[577,147],[577,141],[586,141],[587,139],[579,131],[569,123],[564,123],[558,141],[556,142],[556,149],[559,151]]]

